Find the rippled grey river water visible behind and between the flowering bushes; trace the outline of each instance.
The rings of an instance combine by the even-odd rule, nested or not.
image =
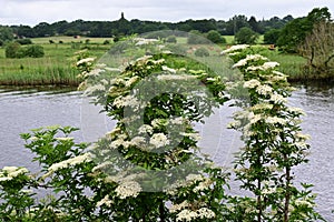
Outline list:
[[[312,135],[310,163],[296,169],[299,182],[314,184],[317,210],[326,220],[334,221],[334,83],[295,85],[289,102],[305,110],[302,124]],[[73,137],[78,141],[95,141],[115,124],[73,89],[0,88],[0,168],[21,165],[32,172],[38,169],[30,160],[33,155],[24,149],[19,133],[45,125],[78,127]],[[222,108],[196,125],[202,134],[200,145],[212,158],[228,165],[233,153],[242,145],[238,134],[225,129],[230,121],[230,108]]]

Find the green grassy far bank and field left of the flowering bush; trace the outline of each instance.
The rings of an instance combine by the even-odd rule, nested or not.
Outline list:
[[[86,43],[87,39],[70,37],[32,39],[33,43],[45,48],[43,58],[8,59],[4,57],[4,49],[0,48],[0,84],[77,85],[78,72],[72,67],[75,53],[87,48],[92,57],[99,58],[111,47],[111,44],[104,44],[106,39],[102,38],[90,38],[89,43]],[[53,43],[50,43],[50,40]]]

